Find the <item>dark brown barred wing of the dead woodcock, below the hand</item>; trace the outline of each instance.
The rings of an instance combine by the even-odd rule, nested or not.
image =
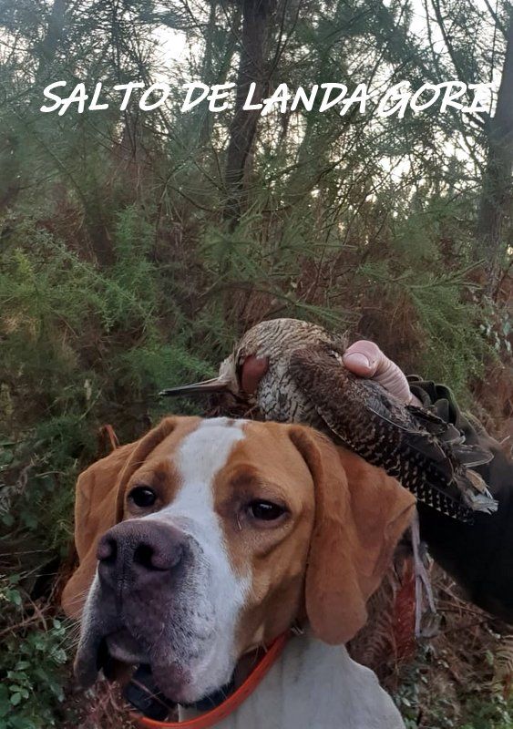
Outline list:
[[[373,380],[348,372],[340,353],[329,347],[294,352],[290,372],[333,436],[385,468],[417,498],[461,519],[469,509],[481,508],[481,500],[469,498],[477,484],[466,464],[484,463],[489,454],[465,447],[457,428],[424,408],[403,405]],[[482,488],[477,491],[483,494]]]

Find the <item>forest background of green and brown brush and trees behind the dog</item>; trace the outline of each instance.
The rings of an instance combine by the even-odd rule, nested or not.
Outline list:
[[[453,78],[493,81],[495,114],[241,109],[251,81]],[[154,112],[42,114],[61,79],[175,90]],[[190,80],[236,82],[235,108],[180,114]],[[512,7],[0,0],[0,99],[0,727],[108,729],[118,695],[73,693],[58,609],[101,426],[139,436],[160,388],[292,315],[374,339],[511,434]],[[513,638],[440,579],[441,636],[388,673],[407,725],[511,727]]]

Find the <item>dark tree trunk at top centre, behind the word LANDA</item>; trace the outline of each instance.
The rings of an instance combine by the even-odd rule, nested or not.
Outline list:
[[[242,0],[241,59],[225,167],[227,200],[224,218],[231,221],[232,228],[237,225],[241,217],[244,168],[260,116],[259,109],[245,111],[243,106],[251,82],[256,84],[253,103],[259,103],[263,98],[266,83],[265,49],[269,19],[275,6],[276,0]]]

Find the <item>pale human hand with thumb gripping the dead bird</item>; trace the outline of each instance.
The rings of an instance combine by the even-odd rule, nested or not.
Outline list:
[[[366,339],[354,342],[345,350],[343,361],[354,375],[373,379],[405,405],[421,405],[410,392],[404,372],[374,342]]]

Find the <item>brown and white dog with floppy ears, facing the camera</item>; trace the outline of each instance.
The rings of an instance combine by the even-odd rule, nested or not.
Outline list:
[[[79,477],[76,670],[106,641],[193,703],[241,657],[306,625],[225,729],[399,729],[374,673],[344,648],[366,619],[415,499],[303,426],[169,417]],[[186,712],[180,714],[187,716]]]

